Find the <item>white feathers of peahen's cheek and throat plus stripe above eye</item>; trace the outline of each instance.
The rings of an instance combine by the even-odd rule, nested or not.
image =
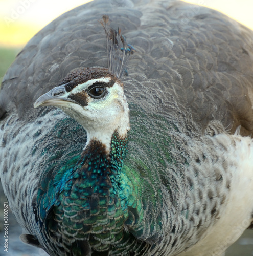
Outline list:
[[[110,80],[110,78],[94,79],[80,86],[84,90],[95,82]],[[129,109],[122,84],[115,82],[112,87],[106,87],[106,90],[108,93],[101,99],[90,97],[87,106],[67,102],[63,110],[84,127],[87,132],[87,144],[90,140],[98,140],[106,145],[109,152],[113,132],[117,131],[119,136],[124,138],[130,127]]]

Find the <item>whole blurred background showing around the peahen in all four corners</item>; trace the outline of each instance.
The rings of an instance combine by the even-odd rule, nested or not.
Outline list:
[[[109,1],[109,0],[108,0]],[[0,0],[0,83],[17,53],[40,29],[62,13],[86,2],[85,0]],[[253,0],[189,0],[223,12],[253,29]],[[0,256],[6,255],[3,242],[3,211],[6,198],[0,185]],[[45,256],[43,250],[20,242],[21,228],[9,210],[9,255]],[[226,256],[253,255],[253,230],[246,230]]]

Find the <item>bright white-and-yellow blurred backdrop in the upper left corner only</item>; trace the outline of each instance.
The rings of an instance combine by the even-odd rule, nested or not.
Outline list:
[[[0,0],[0,46],[24,46],[56,17],[89,1]]]

